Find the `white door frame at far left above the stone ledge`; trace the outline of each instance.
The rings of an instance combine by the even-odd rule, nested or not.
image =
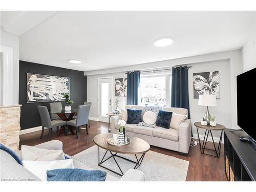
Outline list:
[[[0,46],[0,52],[3,53],[3,88],[1,93],[3,106],[13,104],[13,49]]]

